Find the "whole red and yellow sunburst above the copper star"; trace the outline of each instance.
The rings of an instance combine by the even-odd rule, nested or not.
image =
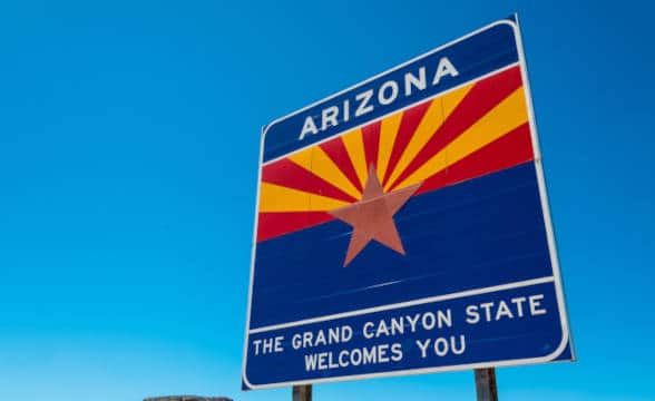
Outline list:
[[[517,66],[264,165],[257,241],[333,219],[371,165],[385,193],[417,196],[532,159]]]

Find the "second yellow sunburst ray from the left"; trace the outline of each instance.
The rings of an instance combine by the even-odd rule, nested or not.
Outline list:
[[[352,185],[341,169],[332,162],[330,156],[319,145],[289,156],[289,159],[317,177],[325,179],[339,189],[359,199],[358,188]]]

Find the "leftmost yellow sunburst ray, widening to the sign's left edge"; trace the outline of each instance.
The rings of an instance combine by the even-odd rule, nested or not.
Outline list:
[[[270,183],[262,183],[262,187],[260,188],[260,213],[323,212],[345,205],[348,205],[348,202]]]

